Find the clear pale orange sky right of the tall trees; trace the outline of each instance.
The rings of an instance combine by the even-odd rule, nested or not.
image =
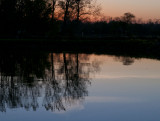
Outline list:
[[[160,0],[97,0],[105,16],[118,17],[126,12],[136,18],[160,19]]]

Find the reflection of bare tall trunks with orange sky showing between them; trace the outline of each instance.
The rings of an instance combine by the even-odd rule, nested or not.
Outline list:
[[[85,54],[51,54],[50,57],[54,66],[48,75],[53,78],[45,88],[43,105],[47,110],[65,110],[66,105],[82,101],[88,95],[89,74],[96,69],[94,62],[89,63],[89,56]]]

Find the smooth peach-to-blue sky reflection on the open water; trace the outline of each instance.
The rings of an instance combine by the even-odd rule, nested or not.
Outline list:
[[[84,102],[67,105],[67,111],[36,112],[7,109],[0,121],[158,121],[160,120],[160,62],[134,60],[124,66],[112,56],[93,55],[101,61],[100,72],[88,86]],[[41,101],[41,98],[39,99]]]

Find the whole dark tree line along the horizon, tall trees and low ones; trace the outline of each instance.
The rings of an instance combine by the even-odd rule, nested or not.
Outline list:
[[[103,19],[95,0],[1,0],[1,38],[160,36],[160,21]],[[99,18],[99,21],[96,21]]]

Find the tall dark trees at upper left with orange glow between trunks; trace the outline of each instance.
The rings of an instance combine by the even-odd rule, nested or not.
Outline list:
[[[93,9],[94,8],[94,9]],[[0,36],[33,37],[66,33],[68,25],[98,12],[94,0],[1,0]]]

